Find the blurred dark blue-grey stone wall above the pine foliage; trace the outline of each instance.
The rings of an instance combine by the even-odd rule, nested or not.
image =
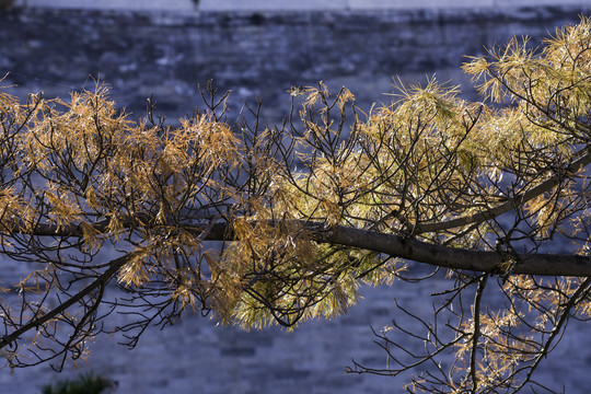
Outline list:
[[[512,35],[538,37],[579,20],[580,9],[526,8],[299,13],[163,13],[16,9],[0,13],[0,73],[24,96],[66,95],[109,83],[120,106],[142,115],[154,93],[170,119],[198,104],[197,83],[213,80],[243,100],[262,96],[277,121],[291,85],[341,84],[369,108],[392,77],[466,82],[464,55]],[[472,91],[467,96],[474,97]]]

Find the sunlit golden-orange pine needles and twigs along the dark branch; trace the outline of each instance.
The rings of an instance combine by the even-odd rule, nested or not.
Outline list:
[[[534,371],[569,318],[591,317],[590,49],[582,19],[541,48],[472,58],[480,103],[434,78],[367,113],[345,88],[293,88],[274,127],[259,107],[229,119],[211,85],[174,127],[151,100],[131,120],[102,84],[25,103],[0,92],[1,253],[31,267],[0,283],[5,364],[60,369],[103,332],[135,346],[187,310],[291,328],[345,313],[363,282],[442,274],[432,322],[401,306],[425,333],[394,321],[376,333],[387,366],[350,371],[416,371],[410,392],[549,391]],[[548,254],[557,244],[567,253]],[[434,271],[412,278],[416,263]]]

